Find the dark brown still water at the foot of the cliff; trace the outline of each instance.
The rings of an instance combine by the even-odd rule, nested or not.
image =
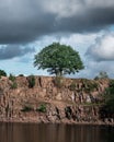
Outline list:
[[[0,142],[114,142],[114,128],[1,122]]]

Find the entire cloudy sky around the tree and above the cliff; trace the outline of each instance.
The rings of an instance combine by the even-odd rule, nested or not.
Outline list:
[[[81,56],[86,69],[71,78],[114,78],[114,0],[0,0],[0,69],[48,75],[33,59],[54,42]]]

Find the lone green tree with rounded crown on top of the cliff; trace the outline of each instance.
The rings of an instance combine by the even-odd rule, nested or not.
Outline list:
[[[56,76],[76,73],[84,68],[79,52],[70,46],[59,43],[53,43],[35,55],[34,67],[47,69],[50,74],[56,74]]]

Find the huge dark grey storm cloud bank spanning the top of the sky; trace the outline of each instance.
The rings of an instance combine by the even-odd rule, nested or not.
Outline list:
[[[1,0],[0,44],[58,32],[93,32],[114,24],[113,0]]]

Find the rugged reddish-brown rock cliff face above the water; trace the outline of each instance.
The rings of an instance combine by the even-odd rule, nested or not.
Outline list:
[[[101,94],[109,86],[109,80],[34,78],[33,87],[26,76],[18,76],[14,82],[4,76],[0,79],[1,121],[101,121]]]

